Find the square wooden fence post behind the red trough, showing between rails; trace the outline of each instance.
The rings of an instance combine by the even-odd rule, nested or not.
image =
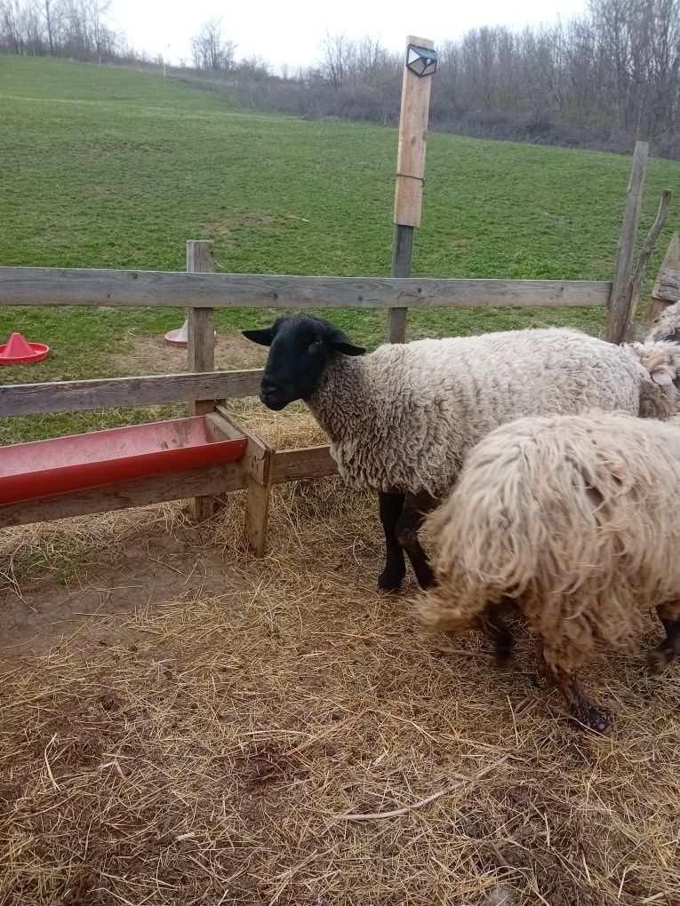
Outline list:
[[[212,273],[215,270],[213,244],[200,239],[187,242],[187,270],[189,273]],[[212,308],[189,308],[188,323],[189,371],[215,371],[215,318]],[[215,409],[215,400],[194,400],[190,404],[192,415],[205,415]],[[192,516],[202,521],[215,511],[212,497],[195,497]]]

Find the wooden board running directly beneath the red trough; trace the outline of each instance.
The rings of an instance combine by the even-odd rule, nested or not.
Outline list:
[[[67,516],[84,516],[129,506],[146,506],[161,500],[183,500],[193,496],[223,494],[246,487],[239,463],[189,469],[171,475],[139,478],[111,487],[95,487],[72,494],[42,497],[24,503],[0,506],[0,528],[48,522]]]

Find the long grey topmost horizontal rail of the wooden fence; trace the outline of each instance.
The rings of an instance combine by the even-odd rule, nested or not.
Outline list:
[[[439,280],[0,267],[0,305],[185,308],[606,306],[602,280]]]

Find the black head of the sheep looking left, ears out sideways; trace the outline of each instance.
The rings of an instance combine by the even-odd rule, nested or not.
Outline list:
[[[306,400],[336,355],[365,352],[335,324],[302,312],[277,318],[271,327],[244,331],[243,335],[269,347],[259,398],[273,410],[283,409],[294,400]]]

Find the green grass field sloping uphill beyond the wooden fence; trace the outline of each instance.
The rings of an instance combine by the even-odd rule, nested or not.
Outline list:
[[[0,265],[181,270],[186,240],[208,238],[227,271],[389,274],[393,129],[256,114],[173,79],[9,56],[0,56],[0,120]],[[611,276],[630,158],[436,133],[428,145],[414,275]],[[652,160],[643,231],[666,186],[680,188],[680,164]],[[651,272],[677,225],[674,212]],[[117,354],[126,344],[161,336],[182,317],[165,309],[4,308],[0,341],[18,330],[49,343],[53,355],[5,369],[0,380],[121,374]],[[221,311],[218,329],[270,317]],[[357,342],[373,347],[384,338],[383,313],[334,318]],[[597,331],[602,313],[413,313],[410,336],[542,323]],[[5,419],[0,442],[115,419]]]

